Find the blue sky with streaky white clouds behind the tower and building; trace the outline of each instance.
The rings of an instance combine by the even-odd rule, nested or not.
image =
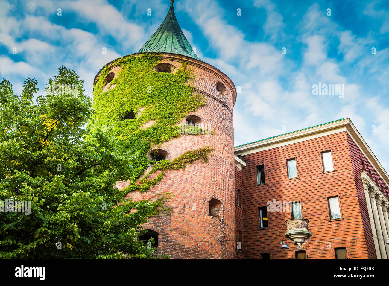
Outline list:
[[[389,170],[389,2],[174,4],[196,54],[242,89],[234,107],[235,145],[350,118]],[[44,93],[49,77],[66,65],[85,80],[91,95],[100,68],[137,52],[169,5],[168,0],[0,0],[0,76],[18,94],[26,77],[35,77]],[[312,85],[319,82],[344,84],[344,97],[313,95]]]

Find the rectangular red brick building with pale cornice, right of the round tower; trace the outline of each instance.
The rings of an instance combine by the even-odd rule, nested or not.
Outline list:
[[[387,259],[389,177],[349,119],[237,146],[235,155],[237,258]],[[309,221],[300,248],[286,237],[293,218],[303,229]]]

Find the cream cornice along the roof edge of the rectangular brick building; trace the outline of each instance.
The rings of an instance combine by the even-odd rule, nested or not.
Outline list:
[[[347,132],[350,135],[352,140],[354,140],[369,163],[373,166],[373,168],[377,171],[377,173],[381,176],[389,188],[389,175],[349,118],[237,146],[234,148],[234,152],[235,155],[244,156],[247,154],[257,153],[260,151],[303,142],[339,132]]]

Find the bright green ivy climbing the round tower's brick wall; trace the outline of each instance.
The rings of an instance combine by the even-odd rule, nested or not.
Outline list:
[[[121,67],[118,75],[107,85],[105,78],[112,65],[106,65],[93,86],[92,107],[96,112],[90,123],[95,123],[96,127],[113,126],[112,130],[115,130],[123,151],[137,154],[133,176],[123,189],[126,192],[147,191],[150,186],[160,182],[168,170],[185,168],[185,164],[196,160],[206,162],[212,151],[212,148],[203,146],[172,161],[156,162],[147,158],[147,153],[163,142],[179,136],[191,136],[181,135],[179,129],[182,126],[178,123],[187,113],[206,104],[205,97],[193,87],[194,77],[186,63],[172,74],[156,72],[154,67],[160,62],[158,53],[131,54],[119,58],[113,63]],[[108,90],[102,92],[106,85]],[[110,89],[112,85],[115,86]],[[122,120],[130,111],[134,112],[135,118]],[[144,127],[146,123],[152,124]],[[189,134],[202,133],[200,129]],[[154,164],[152,169],[136,183],[150,164]],[[149,179],[149,175],[157,171],[160,171],[159,174]]]

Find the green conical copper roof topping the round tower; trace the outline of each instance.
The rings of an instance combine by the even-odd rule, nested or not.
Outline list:
[[[138,53],[142,52],[182,54],[183,56],[200,60],[193,51],[184,33],[182,33],[180,25],[178,25],[177,18],[175,18],[174,14],[173,2],[161,26],[159,26],[154,35],[138,51]]]

